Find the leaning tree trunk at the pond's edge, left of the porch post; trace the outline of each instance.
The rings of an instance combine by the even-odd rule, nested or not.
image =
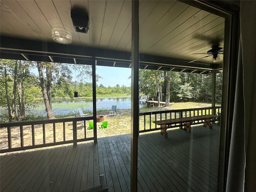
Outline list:
[[[40,86],[41,86],[42,94],[43,94],[43,98],[44,98],[45,109],[47,112],[47,118],[54,119],[55,117],[52,114],[52,109],[51,109],[51,106],[50,106],[50,103],[48,100],[48,96],[47,96],[47,92],[46,92],[41,62],[37,62],[37,68],[38,68],[38,74],[39,74],[39,78],[40,78]]]

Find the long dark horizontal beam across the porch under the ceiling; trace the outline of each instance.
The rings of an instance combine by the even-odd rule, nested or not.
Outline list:
[[[95,57],[97,66],[131,67],[131,53],[119,50],[92,48],[75,45],[62,45],[52,42],[32,41],[2,37],[0,39],[0,57],[3,59],[58,62],[91,65]],[[176,72],[208,74],[212,70],[219,72],[222,64],[189,63],[147,54],[139,55],[139,68],[148,70],[166,70]]]

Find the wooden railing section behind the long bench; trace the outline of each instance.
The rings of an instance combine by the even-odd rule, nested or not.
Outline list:
[[[179,110],[165,110],[140,113],[140,129],[139,132],[148,132],[160,130],[160,126],[157,127],[152,121],[176,119],[181,117],[191,117],[207,114],[220,114],[221,106],[217,107],[205,107],[205,108],[192,108],[192,109],[179,109]],[[215,120],[214,120],[215,121]],[[216,120],[217,121],[217,120]],[[194,124],[201,124],[203,120],[198,120]],[[177,127],[181,127],[181,124],[177,124]]]

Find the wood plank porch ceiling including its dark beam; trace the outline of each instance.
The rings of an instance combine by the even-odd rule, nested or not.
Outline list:
[[[95,56],[97,65],[130,67],[131,1],[1,0],[0,5],[1,58],[54,62],[64,58],[67,62],[86,64],[86,58]],[[70,17],[74,8],[88,12],[87,34],[75,31]],[[214,63],[212,56],[202,58],[208,55],[195,53],[206,53],[212,44],[224,46],[224,21],[184,2],[140,1],[140,68],[188,69],[186,72],[198,69],[197,73],[221,70],[222,54]],[[54,27],[69,30],[72,44],[54,42]],[[19,44],[16,38],[24,41]],[[38,47],[36,42],[40,43]],[[189,63],[196,59],[199,60]]]

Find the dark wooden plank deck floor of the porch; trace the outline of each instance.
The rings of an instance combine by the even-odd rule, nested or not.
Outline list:
[[[159,132],[138,139],[139,192],[215,192],[219,127]],[[0,156],[2,192],[77,192],[98,185],[130,191],[130,135]]]

